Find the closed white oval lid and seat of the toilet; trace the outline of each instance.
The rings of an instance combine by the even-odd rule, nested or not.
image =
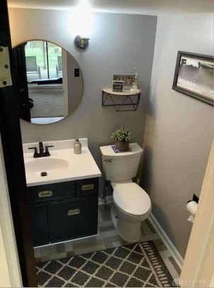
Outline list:
[[[142,216],[151,209],[148,194],[136,183],[116,184],[113,200],[119,209],[133,216]]]

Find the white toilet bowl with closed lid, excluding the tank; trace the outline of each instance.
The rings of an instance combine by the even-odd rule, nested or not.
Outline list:
[[[133,243],[141,238],[141,223],[151,213],[150,197],[136,183],[126,182],[113,186],[111,218],[123,240]]]

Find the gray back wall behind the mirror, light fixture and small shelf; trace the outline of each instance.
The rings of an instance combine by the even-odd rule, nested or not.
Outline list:
[[[9,16],[13,45],[33,38],[58,43],[72,53],[84,78],[83,98],[72,116],[46,126],[21,121],[23,143],[87,137],[100,167],[98,147],[112,143],[115,128],[125,126],[133,132],[133,141],[142,143],[157,17],[95,13],[89,47],[80,51],[74,47],[75,23],[70,23],[68,11],[9,9]],[[139,109],[115,112],[103,108],[102,88],[111,87],[112,74],[132,73],[134,67],[140,72],[142,88]]]

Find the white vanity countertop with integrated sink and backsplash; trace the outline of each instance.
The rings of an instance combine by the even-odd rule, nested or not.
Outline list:
[[[28,150],[30,147],[38,147],[38,143],[23,144],[27,186],[30,187],[77,179],[101,177],[101,172],[88,148],[87,139],[79,139],[79,142],[82,145],[81,154],[74,154],[74,140],[44,142],[44,150],[45,145],[54,145],[55,147],[49,148],[50,156],[39,158],[33,157],[33,150]],[[57,162],[57,160],[63,161],[66,165],[63,165],[62,167],[59,166],[59,168],[51,167],[51,165],[50,167],[48,167],[48,165],[40,165],[40,163],[45,163],[44,161],[46,159],[49,162],[52,160],[55,162]],[[30,168],[28,168],[29,162],[31,162],[31,166],[33,163],[33,165],[35,164],[39,169],[37,168],[36,171],[30,170]],[[40,172],[47,172],[47,176],[40,176]]]

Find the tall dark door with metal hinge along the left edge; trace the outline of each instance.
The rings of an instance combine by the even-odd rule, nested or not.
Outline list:
[[[11,79],[14,84],[13,55],[6,0],[0,1],[0,27],[0,53],[5,50],[9,51],[9,57],[4,57],[0,65],[5,69],[11,67]],[[0,81],[0,133],[23,286],[36,287],[33,237],[26,192],[18,99],[16,87],[7,78]]]

